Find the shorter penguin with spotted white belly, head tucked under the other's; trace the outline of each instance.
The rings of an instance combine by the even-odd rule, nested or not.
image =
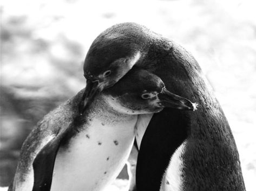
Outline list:
[[[102,190],[128,159],[138,114],[164,107],[193,110],[155,74],[132,69],[98,94],[83,115],[83,96],[47,114],[24,141],[9,190]]]

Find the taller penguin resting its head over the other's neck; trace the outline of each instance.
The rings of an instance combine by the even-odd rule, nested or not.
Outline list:
[[[84,92],[81,112],[133,67],[159,76],[168,90],[199,105],[196,112],[165,108],[140,115],[137,190],[245,190],[233,134],[199,64],[145,26],[116,24],[91,44],[84,76],[93,85]]]

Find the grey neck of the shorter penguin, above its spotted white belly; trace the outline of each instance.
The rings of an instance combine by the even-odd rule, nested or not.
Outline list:
[[[78,92],[75,97],[67,101],[67,105],[71,108],[73,122],[71,122],[71,127],[69,133],[65,136],[62,141],[62,145],[68,145],[69,140],[77,135],[79,132],[91,127],[95,121],[101,125],[108,125],[110,127],[123,126],[124,124],[132,124],[131,127],[135,126],[137,120],[137,115],[130,115],[116,111],[111,105],[106,101],[106,97],[102,94],[98,95],[89,108],[80,115],[78,111],[78,106],[82,99],[84,89]]]

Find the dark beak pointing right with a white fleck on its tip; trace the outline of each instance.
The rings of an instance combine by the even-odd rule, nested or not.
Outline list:
[[[195,111],[198,104],[192,103],[186,98],[182,98],[179,95],[169,92],[166,88],[163,88],[161,93],[158,94],[160,103],[164,107],[176,108],[179,110],[193,110]]]

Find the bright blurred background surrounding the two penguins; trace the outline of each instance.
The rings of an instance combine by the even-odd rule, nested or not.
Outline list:
[[[121,22],[146,25],[191,51],[224,109],[247,190],[256,180],[256,14],[254,0],[2,0],[0,185],[43,115],[86,81],[93,40]],[[117,182],[110,190],[125,190]]]

